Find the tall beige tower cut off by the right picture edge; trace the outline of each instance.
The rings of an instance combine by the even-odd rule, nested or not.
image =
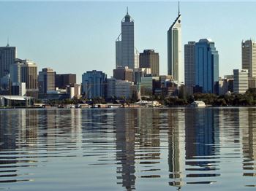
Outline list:
[[[242,41],[242,69],[248,70],[249,77],[256,77],[256,42]]]

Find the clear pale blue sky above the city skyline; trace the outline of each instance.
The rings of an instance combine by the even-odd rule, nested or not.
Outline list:
[[[17,47],[18,58],[59,74],[96,69],[113,75],[115,41],[129,7],[135,47],[159,52],[167,74],[167,30],[178,15],[177,1],[0,1],[0,46]],[[219,51],[219,76],[241,69],[241,41],[255,39],[256,2],[181,1],[182,42],[210,38]]]

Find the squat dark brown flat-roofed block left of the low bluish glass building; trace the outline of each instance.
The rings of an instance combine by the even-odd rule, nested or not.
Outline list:
[[[67,85],[76,84],[76,74],[55,74],[55,86],[66,89]]]

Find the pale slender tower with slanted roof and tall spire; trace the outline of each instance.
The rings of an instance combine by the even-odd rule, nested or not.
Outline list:
[[[167,73],[176,81],[181,81],[181,49],[181,14],[178,6],[178,17],[167,31]]]

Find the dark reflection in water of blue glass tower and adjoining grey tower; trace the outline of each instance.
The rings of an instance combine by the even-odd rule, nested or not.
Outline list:
[[[187,183],[210,184],[219,170],[219,109],[187,109],[186,171]],[[191,173],[190,173],[191,172]],[[207,179],[202,179],[207,177]],[[190,181],[190,178],[192,181]],[[200,178],[195,179],[195,178]]]

